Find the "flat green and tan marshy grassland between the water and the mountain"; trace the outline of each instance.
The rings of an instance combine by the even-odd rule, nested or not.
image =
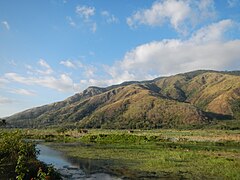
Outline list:
[[[32,133],[48,139],[50,132]],[[71,157],[108,162],[104,168],[121,177],[240,179],[239,130],[89,130],[50,134],[55,141],[65,141],[51,143],[52,147]]]

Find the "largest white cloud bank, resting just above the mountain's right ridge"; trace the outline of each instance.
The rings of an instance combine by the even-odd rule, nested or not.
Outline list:
[[[200,29],[188,40],[169,39],[140,45],[108,67],[107,72],[113,82],[120,83],[197,69],[238,69],[240,40],[223,38],[232,24],[231,20],[222,20]]]

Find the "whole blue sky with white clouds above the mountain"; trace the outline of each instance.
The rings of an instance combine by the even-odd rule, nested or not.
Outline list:
[[[240,70],[240,0],[0,0],[0,117],[106,87]]]

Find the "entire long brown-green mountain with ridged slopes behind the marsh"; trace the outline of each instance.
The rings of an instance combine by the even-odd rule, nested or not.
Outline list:
[[[7,119],[19,127],[168,128],[240,119],[240,71],[199,70],[151,81],[89,87]]]

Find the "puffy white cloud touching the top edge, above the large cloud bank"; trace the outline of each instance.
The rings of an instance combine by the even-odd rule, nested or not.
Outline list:
[[[130,27],[138,25],[162,26],[169,22],[181,33],[186,33],[189,24],[195,24],[200,19],[215,15],[213,0],[185,1],[168,0],[156,1],[149,9],[136,11],[127,18]]]

